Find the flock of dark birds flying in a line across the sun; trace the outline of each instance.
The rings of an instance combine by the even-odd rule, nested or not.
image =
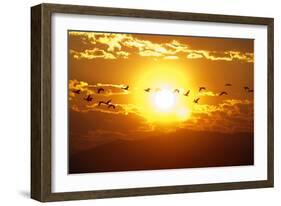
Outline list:
[[[227,84],[225,84],[224,86],[226,86],[226,87],[231,87],[232,84],[227,83]],[[121,87],[121,89],[122,89],[122,90],[125,90],[125,91],[128,91],[128,90],[129,90],[129,85],[126,85],[126,86],[124,86],[124,87]],[[254,92],[254,90],[253,90],[253,89],[250,89],[248,86],[244,86],[243,89],[244,89],[246,92],[249,92],[249,93]],[[199,90],[198,90],[198,91],[199,91],[199,92],[202,92],[202,91],[204,91],[204,90],[207,90],[207,88],[206,88],[206,87],[199,87]],[[151,88],[146,88],[146,89],[144,89],[144,91],[145,91],[145,92],[152,92],[153,90],[152,90]],[[155,91],[155,92],[159,92],[159,91],[161,91],[161,89],[160,89],[160,88],[156,88],[154,91]],[[72,92],[75,93],[75,94],[81,94],[81,89],[74,89],[74,90],[72,90]],[[98,88],[98,90],[97,90],[97,93],[98,93],[98,94],[103,93],[103,92],[105,92],[105,89],[104,89],[104,88],[102,88],[102,87]],[[174,93],[180,94],[180,90],[179,90],[179,89],[174,89],[173,92],[174,92]],[[186,91],[183,95],[186,96],[186,97],[188,97],[188,96],[189,96],[189,93],[190,93],[190,89],[189,89],[188,91]],[[218,94],[218,96],[223,96],[223,95],[228,95],[228,93],[227,93],[226,91],[222,91],[222,92],[220,92],[220,93]],[[85,101],[88,101],[88,102],[93,101],[93,97],[92,97],[90,94],[89,94],[87,97],[83,98],[83,99],[84,99]],[[198,98],[194,99],[193,102],[196,103],[196,104],[198,104],[198,103],[199,103],[199,100],[200,100],[200,98],[198,97]],[[113,109],[116,108],[116,106],[111,103],[111,99],[108,100],[108,101],[99,101],[99,102],[98,102],[98,106],[101,106],[101,105],[106,105],[107,108],[113,108]]]

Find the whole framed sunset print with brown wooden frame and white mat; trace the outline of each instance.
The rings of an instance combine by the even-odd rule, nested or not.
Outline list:
[[[31,8],[31,197],[273,187],[273,19]]]

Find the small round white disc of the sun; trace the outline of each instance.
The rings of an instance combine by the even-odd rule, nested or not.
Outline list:
[[[173,92],[163,89],[153,95],[153,103],[161,110],[169,110],[175,106],[176,98]]]

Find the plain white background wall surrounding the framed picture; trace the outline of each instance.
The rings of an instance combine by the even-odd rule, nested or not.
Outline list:
[[[47,205],[280,205],[281,201],[281,12],[276,0],[63,0],[67,3],[218,13],[275,18],[275,188],[180,195],[47,203]],[[29,199],[30,185],[30,7],[41,1],[1,2],[0,32],[0,203],[39,205]],[[278,203],[279,202],[279,203]]]

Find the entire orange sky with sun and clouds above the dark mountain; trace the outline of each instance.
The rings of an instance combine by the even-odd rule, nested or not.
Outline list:
[[[254,40],[69,31],[68,73],[70,155],[120,140],[253,135]]]

